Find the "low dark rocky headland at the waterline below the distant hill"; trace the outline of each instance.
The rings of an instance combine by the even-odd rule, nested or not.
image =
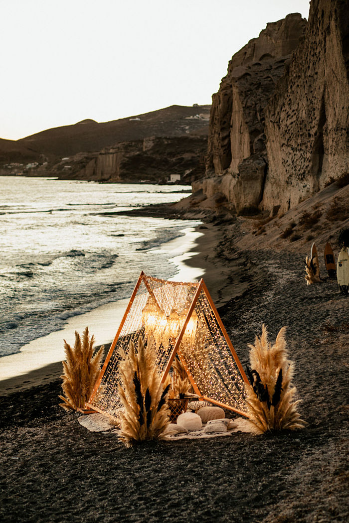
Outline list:
[[[171,174],[192,183],[205,173],[206,136],[148,137],[93,154],[77,154],[51,169],[59,178],[100,182],[166,182]]]

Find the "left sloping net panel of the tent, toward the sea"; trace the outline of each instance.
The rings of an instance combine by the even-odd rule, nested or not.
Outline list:
[[[156,365],[164,372],[198,285],[142,276],[102,380],[88,403],[90,407],[109,414],[119,409],[118,367],[122,351],[127,354],[131,341],[137,349],[139,336],[155,346]]]

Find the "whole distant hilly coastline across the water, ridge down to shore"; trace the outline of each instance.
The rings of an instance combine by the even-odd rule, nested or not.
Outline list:
[[[205,174],[209,114],[209,105],[173,105],[0,140],[0,175],[159,183],[177,174],[190,184]]]

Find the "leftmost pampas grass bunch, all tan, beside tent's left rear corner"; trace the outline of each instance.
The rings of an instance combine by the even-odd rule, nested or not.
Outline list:
[[[64,396],[59,396],[64,403],[60,406],[66,410],[76,411],[83,408],[91,396],[100,371],[100,364],[104,353],[104,345],[94,354],[95,337],[91,339],[88,327],[85,328],[82,340],[75,331],[75,344],[71,347],[64,339],[66,361],[63,363],[62,389]]]

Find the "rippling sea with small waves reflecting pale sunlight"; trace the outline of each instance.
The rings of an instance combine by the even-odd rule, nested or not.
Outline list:
[[[0,177],[0,357],[129,298],[141,270],[175,276],[159,247],[200,222],[104,213],[185,196],[183,186]]]

